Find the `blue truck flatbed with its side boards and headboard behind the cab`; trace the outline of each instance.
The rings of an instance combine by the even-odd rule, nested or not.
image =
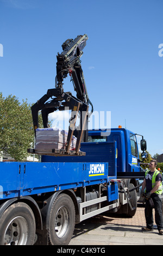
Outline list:
[[[54,162],[1,162],[3,192],[0,191],[0,199],[85,187],[116,179],[116,142],[86,144],[90,149],[86,156],[66,157],[66,161],[63,156],[54,157],[57,160]],[[112,151],[110,160],[106,157],[102,160],[102,148],[105,148],[106,156]]]

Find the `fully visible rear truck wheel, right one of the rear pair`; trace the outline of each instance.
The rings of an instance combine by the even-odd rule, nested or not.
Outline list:
[[[55,199],[49,217],[49,242],[51,245],[68,245],[75,225],[75,208],[67,194]]]

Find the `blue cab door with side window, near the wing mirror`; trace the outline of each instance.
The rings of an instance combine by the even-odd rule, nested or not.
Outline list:
[[[139,172],[139,153],[137,147],[136,136],[129,133],[129,172]]]

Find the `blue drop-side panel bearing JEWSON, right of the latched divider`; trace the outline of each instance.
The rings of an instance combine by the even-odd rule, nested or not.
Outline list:
[[[99,179],[107,182],[108,163],[93,164],[96,167],[101,164],[104,173],[89,177],[91,163],[33,163],[33,167],[31,163],[27,163],[23,196],[94,185],[100,182]],[[33,175],[35,178],[30,179]]]

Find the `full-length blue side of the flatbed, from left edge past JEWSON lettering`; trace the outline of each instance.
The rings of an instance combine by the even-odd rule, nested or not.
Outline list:
[[[108,182],[108,163],[1,163],[0,199],[66,190]],[[10,168],[9,168],[10,167]],[[20,174],[19,174],[19,168]],[[10,174],[8,170],[10,169]],[[5,177],[7,176],[7,180]],[[15,178],[17,181],[15,181]],[[20,184],[20,186],[19,186]]]

